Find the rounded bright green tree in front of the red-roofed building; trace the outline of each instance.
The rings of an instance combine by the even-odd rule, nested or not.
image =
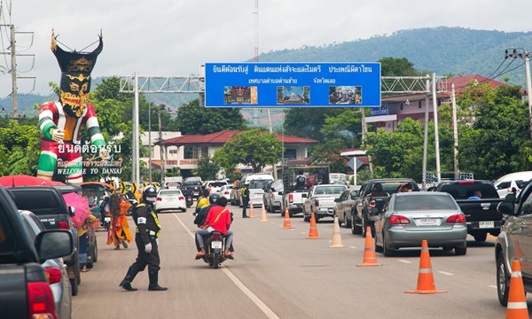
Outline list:
[[[254,173],[281,159],[281,141],[278,137],[258,128],[240,132],[215,151],[213,161],[227,171],[238,164],[250,166]]]

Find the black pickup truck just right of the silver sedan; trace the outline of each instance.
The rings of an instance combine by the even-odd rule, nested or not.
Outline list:
[[[501,229],[501,215],[497,212],[497,206],[504,199],[499,198],[497,189],[489,181],[446,181],[437,183],[427,191],[446,191],[455,198],[465,214],[467,233],[474,240],[482,242],[486,240],[488,233],[497,236]],[[480,199],[468,199],[473,197],[475,191],[481,191]]]

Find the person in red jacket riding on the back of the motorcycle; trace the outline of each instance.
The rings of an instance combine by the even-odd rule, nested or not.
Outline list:
[[[218,195],[216,203],[217,205],[209,208],[205,222],[201,226],[200,230],[196,231],[196,240],[198,240],[200,245],[200,253],[196,254],[196,259],[200,259],[205,256],[205,237],[215,230],[223,233],[223,237],[225,237],[224,254],[227,258],[233,259],[233,253],[231,253],[229,250],[229,247],[232,244],[233,231],[230,229],[231,212],[225,208],[225,206],[227,206],[227,198],[220,198]]]

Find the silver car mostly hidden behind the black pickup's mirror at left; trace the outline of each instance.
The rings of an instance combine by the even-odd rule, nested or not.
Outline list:
[[[20,210],[20,216],[27,226],[27,230],[33,239],[43,231],[46,230],[39,218],[26,210]],[[72,313],[72,293],[70,280],[66,273],[66,266],[62,258],[50,259],[44,261],[41,266],[48,277],[50,283],[51,293],[55,302],[56,310],[59,318],[70,318]]]

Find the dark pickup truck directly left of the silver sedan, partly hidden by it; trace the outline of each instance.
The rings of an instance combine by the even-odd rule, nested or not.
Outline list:
[[[351,232],[366,236],[366,227],[372,230],[375,237],[375,219],[382,211],[390,195],[398,192],[401,187],[411,191],[419,191],[418,183],[410,178],[379,178],[366,181],[358,191],[352,212]]]

